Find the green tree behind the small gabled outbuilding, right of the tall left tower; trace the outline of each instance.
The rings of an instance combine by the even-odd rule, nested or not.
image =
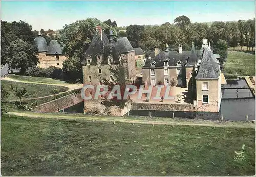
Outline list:
[[[141,25],[130,25],[126,28],[126,35],[133,47],[139,47],[139,42],[142,40],[142,34],[145,30]]]

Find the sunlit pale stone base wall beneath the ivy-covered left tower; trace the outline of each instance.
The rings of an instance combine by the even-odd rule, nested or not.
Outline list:
[[[118,108],[117,106],[107,107],[101,104],[100,100],[90,99],[84,102],[84,113],[123,116],[131,110],[131,107],[131,102],[126,102],[124,108]]]

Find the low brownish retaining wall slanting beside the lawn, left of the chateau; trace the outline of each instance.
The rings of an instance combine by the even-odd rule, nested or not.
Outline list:
[[[58,112],[62,109],[68,108],[72,105],[82,102],[81,93],[71,93],[51,102],[36,106],[31,109],[33,112]]]

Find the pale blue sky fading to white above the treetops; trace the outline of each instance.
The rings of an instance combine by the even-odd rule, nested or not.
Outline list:
[[[255,1],[1,1],[1,20],[26,21],[33,30],[57,30],[88,17],[116,20],[117,26],[233,21],[255,17]]]

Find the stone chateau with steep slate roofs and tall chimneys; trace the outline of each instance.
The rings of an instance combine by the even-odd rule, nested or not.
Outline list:
[[[103,85],[103,79],[114,81],[110,68],[123,66],[125,78],[133,83],[142,80],[145,87],[172,86],[175,92],[178,90],[185,97],[192,93],[193,96],[189,95],[192,100],[184,100],[181,104],[194,106],[193,111],[219,112],[223,74],[220,70],[219,55],[212,53],[207,39],[203,39],[200,50],[195,49],[194,43],[188,51],[183,50],[181,44],[178,51],[170,51],[168,44],[162,52],[155,48],[154,53],[146,60],[140,57],[145,61],[141,68],[141,78],[141,75],[136,77],[135,65],[138,56],[142,55],[144,58],[143,50],[133,48],[126,37],[116,38],[112,31],[106,35],[101,27],[97,26],[82,60],[83,84]],[[93,95],[94,91],[87,90],[86,95],[89,96],[89,92]],[[184,91],[186,93],[183,93]],[[167,101],[167,104],[176,104],[175,100]],[[89,105],[91,109],[100,107],[100,100],[97,103],[95,100],[84,100],[84,103],[86,102],[84,112],[87,112]],[[136,103],[136,100],[133,99],[133,102]],[[161,104],[164,106],[164,103]]]

